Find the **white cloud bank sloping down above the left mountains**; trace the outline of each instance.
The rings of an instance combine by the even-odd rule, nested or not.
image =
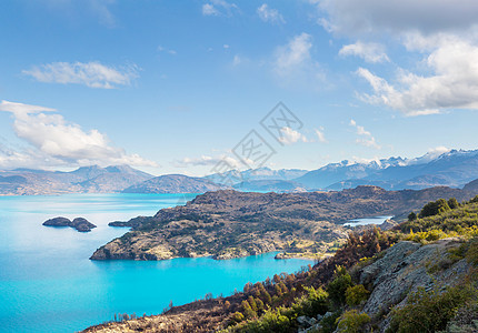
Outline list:
[[[127,154],[125,150],[112,147],[98,130],[84,132],[80,125],[53,113],[54,109],[2,101],[0,111],[12,113],[17,137],[31,145],[27,153],[10,152],[9,157],[3,153],[3,164],[39,160],[42,164],[57,165],[157,165],[138,154]]]

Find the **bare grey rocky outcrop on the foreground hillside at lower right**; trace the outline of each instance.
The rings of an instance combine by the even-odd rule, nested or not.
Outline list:
[[[458,239],[445,239],[431,244],[400,242],[384,251],[384,256],[360,272],[360,283],[371,290],[364,306],[370,317],[387,314],[392,306],[407,303],[418,287],[445,290],[462,281],[470,269],[465,260],[452,258],[450,249],[460,245]],[[381,332],[388,321],[381,322]]]

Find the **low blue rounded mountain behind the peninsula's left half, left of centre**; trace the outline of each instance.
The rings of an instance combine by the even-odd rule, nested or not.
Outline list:
[[[203,178],[166,174],[125,189],[123,193],[205,193],[227,189]]]

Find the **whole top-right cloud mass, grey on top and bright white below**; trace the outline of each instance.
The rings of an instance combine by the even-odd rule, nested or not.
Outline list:
[[[360,39],[386,39],[409,51],[408,69],[394,63],[384,77],[360,68],[372,93],[359,97],[406,115],[426,115],[450,109],[478,109],[478,2],[474,0],[311,0],[322,14],[320,22],[335,34],[357,39],[340,50],[366,61],[386,61],[378,48],[365,48]],[[382,54],[382,56],[380,56]],[[410,70],[412,68],[414,70]]]

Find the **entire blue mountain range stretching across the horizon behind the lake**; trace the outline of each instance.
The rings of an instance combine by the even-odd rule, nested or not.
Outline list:
[[[16,169],[0,171],[0,194],[203,193],[226,188],[245,192],[340,191],[358,185],[386,190],[462,188],[478,179],[478,150],[427,153],[416,159],[341,161],[317,170],[269,168],[231,170],[203,178],[153,176],[128,165],[82,167],[71,172]]]

